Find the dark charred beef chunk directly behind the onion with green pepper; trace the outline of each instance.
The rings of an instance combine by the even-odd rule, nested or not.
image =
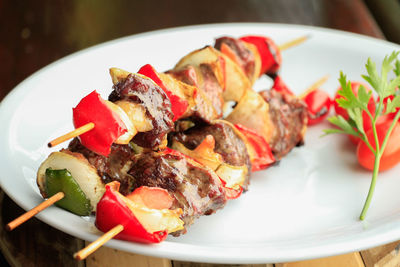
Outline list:
[[[108,157],[98,155],[84,147],[81,142],[75,138],[68,146],[71,152],[78,152],[97,169],[97,172],[103,182],[120,182],[120,192],[124,195],[130,193],[133,188],[133,177],[128,174],[133,163],[134,151],[129,145],[111,146],[111,152]]]

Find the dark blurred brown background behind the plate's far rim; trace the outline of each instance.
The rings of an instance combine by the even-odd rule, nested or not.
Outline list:
[[[0,1],[0,99],[50,62],[121,36],[204,23],[275,22],[383,38],[371,18],[361,0]]]

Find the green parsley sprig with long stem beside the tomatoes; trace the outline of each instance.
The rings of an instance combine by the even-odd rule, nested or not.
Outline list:
[[[399,53],[400,51],[392,52],[389,56],[384,58],[380,73],[378,72],[375,63],[370,58],[365,65],[367,75],[362,75],[362,77],[371,85],[373,90],[379,96],[379,101],[376,103],[375,114],[371,114],[368,109],[368,102],[372,97],[372,91],[367,91],[365,87],[361,85],[358,89],[357,95],[355,95],[351,88],[350,81],[347,81],[347,78],[343,72],[340,73],[339,82],[341,85],[341,90],[339,90],[338,94],[343,98],[336,99],[336,102],[340,107],[347,111],[349,119],[346,120],[340,115],[333,116],[328,120],[338,128],[324,130],[325,134],[343,133],[360,138],[375,156],[371,185],[364,207],[360,214],[360,220],[364,220],[371,204],[372,195],[375,190],[376,179],[378,177],[381,157],[389,140],[389,136],[400,118],[399,110],[393,119],[393,123],[386,132],[382,144],[379,144],[377,134],[378,118],[380,116],[393,113],[396,111],[396,108],[400,107],[400,95],[396,95],[396,92],[398,91],[397,87],[400,87],[400,61],[397,59]],[[390,78],[392,72],[395,76],[394,78]],[[393,96],[393,99],[391,100],[388,98],[389,96]],[[384,103],[385,99],[387,100],[386,104]],[[365,112],[371,119],[372,131],[376,144],[375,147],[371,145],[365,133],[362,116],[363,112]]]

